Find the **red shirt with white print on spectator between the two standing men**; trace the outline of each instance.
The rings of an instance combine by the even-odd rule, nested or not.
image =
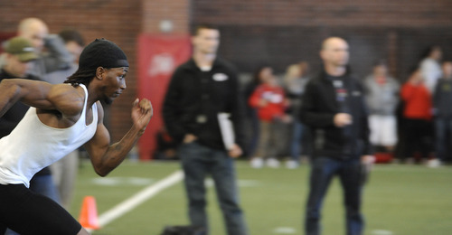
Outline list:
[[[259,107],[260,99],[265,99],[267,105]],[[286,105],[284,90],[280,87],[272,87],[268,84],[261,84],[256,88],[250,96],[248,102],[251,107],[258,108],[258,116],[260,120],[271,121],[273,118],[281,117],[284,114]]]

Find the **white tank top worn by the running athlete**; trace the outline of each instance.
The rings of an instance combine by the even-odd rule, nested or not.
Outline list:
[[[98,109],[92,105],[93,120],[86,126],[88,90],[79,120],[67,128],[42,124],[36,108],[28,109],[10,135],[0,139],[0,183],[30,186],[33,175],[60,160],[94,136],[98,124]]]

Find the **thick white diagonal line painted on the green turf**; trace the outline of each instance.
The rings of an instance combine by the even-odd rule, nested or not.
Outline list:
[[[132,211],[139,204],[146,202],[146,200],[154,197],[157,193],[160,193],[166,188],[171,187],[175,183],[180,182],[183,178],[184,173],[179,170],[174,172],[173,174],[170,174],[165,179],[147,186],[144,190],[138,192],[124,202],[119,203],[115,207],[99,215],[99,226],[104,227],[109,222],[118,219],[128,211]]]

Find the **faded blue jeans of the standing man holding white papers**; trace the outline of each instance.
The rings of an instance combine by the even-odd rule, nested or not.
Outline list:
[[[202,226],[208,230],[204,180],[210,174],[215,183],[228,234],[248,234],[243,212],[239,206],[233,159],[227,155],[226,151],[201,146],[196,142],[184,144],[179,151],[184,168],[184,184],[192,225]]]

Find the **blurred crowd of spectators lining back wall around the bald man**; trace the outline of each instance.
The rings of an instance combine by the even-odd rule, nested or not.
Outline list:
[[[452,158],[452,62],[441,61],[439,46],[428,48],[409,78],[394,78],[384,60],[376,61],[363,84],[374,152],[381,162],[438,167]],[[297,168],[309,159],[309,128],[300,122],[307,81],[315,76],[307,61],[275,76],[260,67],[244,89],[250,123],[250,166]],[[406,80],[406,81],[405,81]]]

